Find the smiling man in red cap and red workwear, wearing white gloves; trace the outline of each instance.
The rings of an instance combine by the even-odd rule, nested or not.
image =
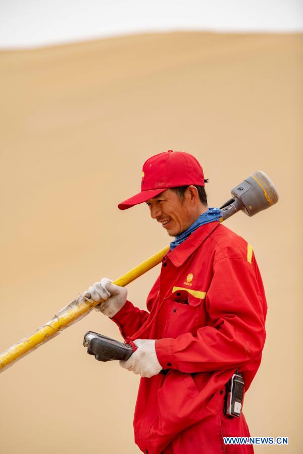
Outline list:
[[[238,369],[248,389],[265,342],[266,299],[251,246],[208,208],[203,169],[190,154],[157,154],[143,165],[141,192],[175,240],[147,297],[147,310],[103,278],[89,288],[100,311],[136,351],[120,365],[141,375],[135,442],[146,454],[251,453],[223,436],[249,436],[244,415],[224,414],[226,383]]]

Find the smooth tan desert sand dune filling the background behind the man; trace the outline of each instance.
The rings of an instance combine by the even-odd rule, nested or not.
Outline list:
[[[301,441],[302,35],[168,33],[0,53],[0,351],[103,276],[169,242],[139,190],[142,163],[195,155],[210,206],[262,170],[280,201],[226,225],[254,247],[268,300],[261,368],[245,397],[252,436]],[[129,286],[141,308],[159,268]],[[139,377],[99,363],[88,329],[121,339],[93,311],[1,374],[0,452],[132,454]]]

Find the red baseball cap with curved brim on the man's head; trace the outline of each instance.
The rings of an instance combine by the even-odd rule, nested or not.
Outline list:
[[[187,185],[204,186],[202,167],[191,154],[168,150],[144,162],[141,192],[119,203],[118,208],[126,210],[156,197],[168,188]]]

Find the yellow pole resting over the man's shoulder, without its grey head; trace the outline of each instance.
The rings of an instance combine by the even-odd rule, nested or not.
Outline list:
[[[158,263],[161,262],[162,258],[168,252],[168,250],[169,246],[157,252],[157,254],[149,257],[147,260],[140,263],[135,268],[123,274],[123,276],[118,277],[118,279],[114,280],[113,283],[121,287],[126,286],[137,277],[146,273],[146,271],[148,271],[149,269],[158,265]],[[70,326],[71,324],[83,318],[99,303],[100,302],[93,300],[89,301],[84,298],[83,295],[79,295],[78,298],[61,309],[52,318],[52,320],[49,320],[43,326],[40,326],[36,330],[36,332],[31,334],[30,336],[24,337],[24,339],[17,342],[17,344],[4,351],[0,355],[0,372],[2,372],[5,368],[11,366],[14,362],[19,360],[26,354],[30,353],[32,350],[35,350],[40,345],[49,341],[49,339],[52,339],[67,326]]]

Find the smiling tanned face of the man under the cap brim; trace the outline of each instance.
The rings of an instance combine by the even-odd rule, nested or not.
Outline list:
[[[147,200],[150,216],[161,222],[171,237],[176,237],[192,224],[192,206],[181,200],[175,191],[166,189],[157,197]]]

